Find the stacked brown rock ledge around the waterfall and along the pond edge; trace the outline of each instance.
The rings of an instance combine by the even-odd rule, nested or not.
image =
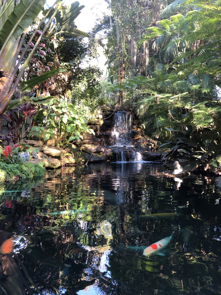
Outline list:
[[[65,165],[75,165],[77,163],[97,162],[97,161],[161,161],[164,152],[157,151],[157,141],[151,140],[143,135],[144,125],[141,121],[131,117],[131,147],[113,146],[116,140],[112,136],[114,124],[114,113],[121,109],[109,109],[101,106],[97,118],[91,122],[89,129],[93,129],[94,135],[85,132],[78,146],[68,144],[65,148],[57,147],[58,139],[56,136],[49,140],[22,140],[24,144],[32,148],[32,162],[42,162],[46,168],[58,168]],[[124,111],[123,111],[124,112]],[[127,111],[126,111],[127,112]],[[128,111],[132,114],[131,111]],[[124,130],[124,129],[123,129]],[[124,131],[122,131],[124,132]],[[143,135],[143,136],[142,136]]]

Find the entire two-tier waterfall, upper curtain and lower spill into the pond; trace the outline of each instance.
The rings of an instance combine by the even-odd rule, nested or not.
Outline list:
[[[114,114],[114,128],[112,139],[114,147],[122,147],[117,155],[117,162],[126,162],[125,150],[123,147],[131,148],[130,162],[142,161],[140,152],[132,149],[132,114],[129,112],[116,112]],[[128,151],[127,151],[128,152]]]

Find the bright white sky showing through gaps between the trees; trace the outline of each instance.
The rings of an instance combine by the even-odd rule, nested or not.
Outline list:
[[[66,0],[65,5],[69,5],[75,0]],[[48,0],[47,4],[52,5],[55,0]],[[108,4],[104,0],[78,0],[81,5],[85,7],[82,9],[80,15],[75,19],[77,28],[83,32],[89,32],[95,23],[98,16],[102,15],[102,12],[108,11]],[[87,42],[85,38],[85,42]],[[106,58],[103,54],[103,48],[98,48],[98,59],[94,59],[90,62],[90,65],[99,67],[103,71],[103,76],[106,76],[107,68],[105,66]],[[84,67],[86,64],[83,65]]]

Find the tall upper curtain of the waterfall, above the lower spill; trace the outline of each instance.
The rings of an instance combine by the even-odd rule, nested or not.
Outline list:
[[[114,128],[112,138],[115,146],[131,146],[132,142],[132,114],[128,112],[114,113]]]

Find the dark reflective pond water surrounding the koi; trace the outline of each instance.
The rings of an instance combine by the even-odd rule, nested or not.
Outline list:
[[[207,176],[159,171],[100,163],[6,188],[0,242],[17,246],[1,255],[0,294],[220,294],[220,192]],[[173,231],[165,256],[139,250]]]

